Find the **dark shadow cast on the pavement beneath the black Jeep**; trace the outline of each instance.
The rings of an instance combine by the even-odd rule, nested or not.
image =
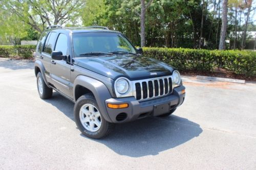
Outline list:
[[[57,92],[53,93],[52,104],[66,116],[74,120],[74,103]],[[177,112],[177,111],[176,111]],[[168,117],[147,117],[135,122],[117,124],[114,131],[103,139],[90,139],[100,142],[119,155],[142,157],[157,155],[183,144],[202,133],[200,125],[177,115]],[[80,134],[82,137],[86,136]]]

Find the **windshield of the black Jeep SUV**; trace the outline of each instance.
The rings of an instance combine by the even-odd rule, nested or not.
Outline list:
[[[73,46],[75,57],[87,57],[92,53],[137,53],[133,45],[118,33],[74,33]]]

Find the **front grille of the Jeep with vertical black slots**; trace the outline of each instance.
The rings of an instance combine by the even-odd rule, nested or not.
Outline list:
[[[172,78],[171,77],[163,77],[157,79],[150,80],[141,80],[135,82],[136,88],[136,99],[137,100],[146,100],[146,99],[154,99],[159,96],[167,95],[172,93]]]

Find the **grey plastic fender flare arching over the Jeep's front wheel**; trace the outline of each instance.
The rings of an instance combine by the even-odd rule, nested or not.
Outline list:
[[[76,77],[74,81],[74,86],[73,86],[74,99],[76,99],[75,89],[77,85],[83,86],[89,89],[93,93],[97,101],[97,104],[99,106],[99,110],[102,113],[102,116],[105,118],[106,121],[112,122],[108,115],[108,112],[106,111],[106,106],[105,106],[105,100],[111,98],[109,89],[102,82],[98,80],[95,80],[87,76],[79,75]]]

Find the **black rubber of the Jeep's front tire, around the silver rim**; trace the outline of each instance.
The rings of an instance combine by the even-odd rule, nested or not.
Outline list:
[[[81,133],[83,135],[88,136],[90,138],[94,138],[94,139],[103,138],[103,137],[109,135],[111,133],[111,131],[114,129],[114,124],[107,122],[104,119],[102,113],[100,113],[100,111],[99,111],[100,117],[101,117],[100,128],[95,132],[91,132],[91,131],[87,130],[86,128],[84,128],[84,126],[81,123],[79,114],[80,114],[81,107],[85,104],[91,104],[91,105],[95,106],[96,108],[99,108],[98,104],[92,94],[85,94],[85,95],[80,96],[80,98],[76,101],[75,106],[74,106],[74,117],[75,117],[75,122],[76,122],[77,128],[81,131]]]

